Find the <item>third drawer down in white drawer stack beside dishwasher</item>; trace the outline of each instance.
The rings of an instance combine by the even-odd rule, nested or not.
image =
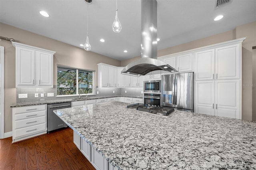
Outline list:
[[[15,129],[46,123],[46,116],[15,121]]]

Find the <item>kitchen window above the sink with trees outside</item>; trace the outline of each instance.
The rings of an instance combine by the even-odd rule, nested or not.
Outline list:
[[[57,65],[57,95],[94,94],[95,71]]]

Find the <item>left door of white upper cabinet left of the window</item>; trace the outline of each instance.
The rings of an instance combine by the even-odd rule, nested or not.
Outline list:
[[[16,47],[16,86],[35,84],[35,51]]]

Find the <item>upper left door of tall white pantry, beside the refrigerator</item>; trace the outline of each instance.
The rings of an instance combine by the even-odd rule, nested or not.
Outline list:
[[[196,80],[214,80],[215,50],[199,51],[195,53],[195,74]]]

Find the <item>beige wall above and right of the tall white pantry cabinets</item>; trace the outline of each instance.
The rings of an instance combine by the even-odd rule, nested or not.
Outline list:
[[[216,34],[214,36],[161,49],[158,51],[158,57],[243,37],[247,38],[242,43],[242,84],[249,86],[242,87],[242,119],[252,121],[252,98],[254,97],[256,100],[256,92],[252,93],[252,68],[256,69],[256,59],[254,60],[254,67],[252,65],[252,46],[256,46],[256,22],[237,26],[234,30]],[[139,58],[140,57],[134,57],[132,59],[121,61],[121,66],[124,67],[131,61]],[[254,77],[255,76],[256,73],[254,74]],[[256,87],[254,87],[254,89],[255,88]],[[254,94],[254,96],[252,94]],[[256,105],[256,101],[254,101],[254,105]],[[254,114],[256,114],[255,112],[256,107]]]

